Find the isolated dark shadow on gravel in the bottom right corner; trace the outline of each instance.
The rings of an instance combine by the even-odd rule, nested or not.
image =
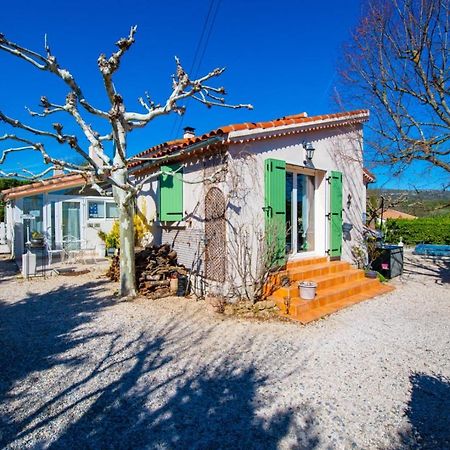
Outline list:
[[[450,380],[423,373],[411,375],[411,399],[406,416],[411,431],[401,436],[401,448],[450,448]]]

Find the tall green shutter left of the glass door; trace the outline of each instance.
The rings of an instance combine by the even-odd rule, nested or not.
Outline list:
[[[265,225],[268,245],[274,252],[273,263],[283,264],[286,258],[286,161],[265,160]]]

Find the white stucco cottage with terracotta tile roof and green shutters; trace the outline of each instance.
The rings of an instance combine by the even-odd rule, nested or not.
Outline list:
[[[201,136],[189,128],[184,139],[138,155],[136,177],[163,172],[142,194],[156,243],[171,243],[198,287],[216,294],[255,289],[270,251],[287,262],[292,286],[330,275],[329,283],[349,282],[352,295],[369,285],[374,294],[379,283],[351,267],[373,181],[363,169],[368,118],[368,111],[302,113]]]

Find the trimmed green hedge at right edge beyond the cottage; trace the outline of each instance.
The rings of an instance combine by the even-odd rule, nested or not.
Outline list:
[[[418,219],[388,219],[386,241],[406,245],[446,244],[450,245],[450,215],[421,217]]]

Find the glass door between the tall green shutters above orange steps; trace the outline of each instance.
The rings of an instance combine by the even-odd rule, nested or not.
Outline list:
[[[314,177],[286,172],[286,253],[314,250]]]

